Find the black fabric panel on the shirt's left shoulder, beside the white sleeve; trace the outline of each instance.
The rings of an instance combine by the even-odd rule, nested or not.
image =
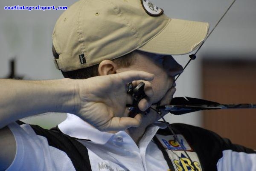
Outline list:
[[[19,125],[24,124],[16,121]],[[30,125],[37,135],[46,137],[50,146],[64,151],[72,161],[76,171],[91,171],[90,159],[87,148],[75,138],[63,134],[58,126],[50,130],[41,128],[38,125]]]

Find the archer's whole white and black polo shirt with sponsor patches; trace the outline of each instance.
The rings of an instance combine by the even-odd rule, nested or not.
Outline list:
[[[138,145],[125,131],[101,132],[73,114],[52,130],[20,124],[8,125],[17,146],[8,171],[256,171],[256,151],[182,123],[170,125],[180,142],[157,122]]]

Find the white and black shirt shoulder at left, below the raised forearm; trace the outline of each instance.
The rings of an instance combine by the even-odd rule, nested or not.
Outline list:
[[[49,166],[51,169],[57,165],[59,168],[56,169],[59,170],[65,165],[65,168],[91,170],[87,148],[75,138],[63,134],[58,127],[48,130],[20,121],[16,123],[20,128],[16,128],[19,131],[16,131],[15,136],[21,138],[16,141],[16,144],[23,149],[20,154],[23,156],[26,154],[26,158],[41,158],[41,161],[35,161],[35,163],[43,162],[42,165],[52,165],[53,168]]]

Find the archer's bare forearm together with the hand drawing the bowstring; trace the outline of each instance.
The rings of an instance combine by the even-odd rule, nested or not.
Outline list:
[[[126,93],[127,83],[153,79],[153,74],[143,71],[125,71],[84,80],[0,79],[0,128],[45,112],[76,114],[101,131],[137,127],[140,115],[128,117],[126,106],[132,104],[132,98]],[[150,97],[154,95],[150,84],[145,86],[145,90],[148,99],[140,101],[142,109],[151,105]]]

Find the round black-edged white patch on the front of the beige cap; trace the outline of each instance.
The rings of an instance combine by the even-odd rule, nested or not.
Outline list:
[[[143,6],[143,9],[146,11],[146,13],[148,13],[153,17],[160,16],[163,14],[163,9],[158,8],[148,0],[141,0],[141,4]]]

